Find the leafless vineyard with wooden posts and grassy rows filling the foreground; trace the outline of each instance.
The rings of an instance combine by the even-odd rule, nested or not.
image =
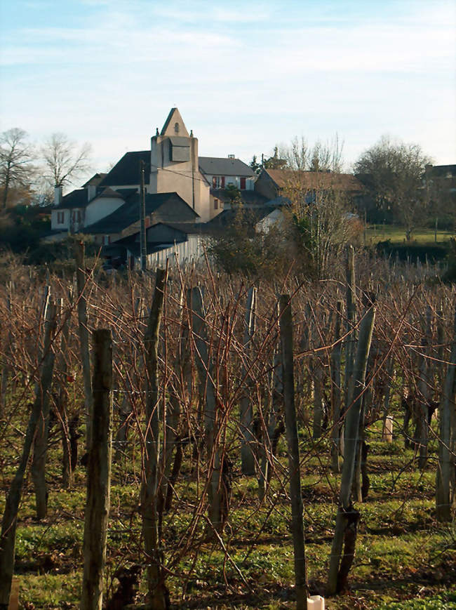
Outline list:
[[[0,609],[456,608],[456,289],[2,269]]]

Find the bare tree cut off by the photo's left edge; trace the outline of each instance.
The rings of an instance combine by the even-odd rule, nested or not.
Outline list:
[[[34,149],[27,138],[27,132],[18,127],[0,135],[0,186],[4,209],[13,189],[23,189],[32,182]]]

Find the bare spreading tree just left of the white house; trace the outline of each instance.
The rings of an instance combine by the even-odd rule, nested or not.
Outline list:
[[[41,147],[48,182],[56,187],[74,183],[90,170],[90,153],[87,142],[79,148],[65,133],[53,133]]]

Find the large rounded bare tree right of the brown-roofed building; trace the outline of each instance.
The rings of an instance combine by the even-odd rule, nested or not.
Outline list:
[[[429,162],[419,145],[395,143],[383,137],[363,152],[354,166],[377,207],[391,209],[398,223],[404,226],[408,241],[424,220],[429,204],[429,193],[423,187],[424,167]]]

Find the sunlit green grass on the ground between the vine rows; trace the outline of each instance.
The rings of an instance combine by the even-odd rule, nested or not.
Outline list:
[[[311,446],[310,436],[302,440]],[[13,472],[22,436],[8,439],[3,451],[3,487]],[[380,439],[380,423],[368,432],[370,493],[361,512],[351,591],[326,600],[332,609],[456,609],[456,530],[435,520],[434,455],[429,468],[417,470],[413,451],[403,439]],[[434,446],[435,451],[435,446]],[[188,451],[188,450],[187,450]],[[335,522],[339,477],[328,474],[328,447],[322,445],[302,470],[308,576],[312,592],[323,592]],[[106,596],[112,594],[114,571],[138,562],[141,555],[138,462],[114,464],[107,551]],[[82,570],[84,471],[76,470],[74,489],[60,486],[60,450],[50,452],[49,514],[36,522],[34,494],[27,484],[20,508],[16,573],[22,608],[76,609]],[[136,456],[138,459],[138,456]],[[279,459],[286,465],[285,442]],[[196,477],[184,470],[180,506],[194,503]],[[293,608],[293,543],[286,490],[273,479],[274,507],[257,499],[255,477],[234,472],[232,512],[224,531],[226,551],[208,542],[203,529],[194,548],[180,558],[179,540],[190,513],[166,515],[163,551],[170,569],[168,587],[175,608]],[[4,487],[5,489],[5,487]],[[2,493],[0,511],[4,506]],[[236,567],[235,567],[236,566]],[[141,584],[138,600],[145,593]],[[106,599],[106,597],[105,597]],[[143,600],[142,600],[143,601]]]

